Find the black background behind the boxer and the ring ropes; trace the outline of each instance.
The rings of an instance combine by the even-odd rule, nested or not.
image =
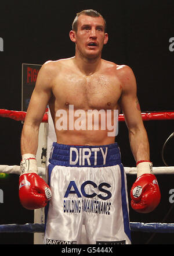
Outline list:
[[[7,1],[1,2],[0,108],[21,110],[21,64],[44,64],[74,56],[69,31],[75,13],[95,9],[107,22],[108,44],[103,58],[131,66],[137,80],[137,96],[142,112],[173,111],[173,57],[169,38],[174,37],[173,1]],[[174,47],[173,47],[174,49]],[[21,122],[0,118],[1,164],[20,163]],[[146,121],[154,166],[164,166],[161,150],[173,132],[173,120]],[[117,141],[124,166],[135,166],[125,123],[119,124]],[[165,160],[173,166],[173,139],[165,148]],[[128,191],[135,181],[128,176]],[[18,198],[18,179],[10,174],[0,180],[4,203],[0,204],[0,224],[33,223],[33,212],[22,208]],[[158,175],[161,203],[154,212],[143,215],[130,208],[131,222],[173,223],[173,204],[169,190],[173,175]],[[173,234],[132,232],[133,244],[174,244]],[[32,234],[0,233],[0,244],[32,244]]]

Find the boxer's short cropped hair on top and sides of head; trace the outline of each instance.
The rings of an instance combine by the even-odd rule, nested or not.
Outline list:
[[[104,32],[106,32],[106,20],[104,19],[104,17],[99,12],[97,12],[96,10],[93,10],[93,9],[82,10],[81,12],[78,12],[76,14],[76,17],[75,17],[75,19],[73,21],[73,24],[72,24],[72,30],[74,30],[75,32],[77,32],[78,17],[80,15],[87,15],[87,16],[90,16],[90,17],[102,17],[102,19],[104,21]]]

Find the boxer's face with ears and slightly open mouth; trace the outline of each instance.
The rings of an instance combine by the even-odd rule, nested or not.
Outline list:
[[[101,56],[103,45],[107,43],[108,35],[104,33],[104,20],[102,17],[80,15],[78,29],[74,32],[76,51],[85,58]]]

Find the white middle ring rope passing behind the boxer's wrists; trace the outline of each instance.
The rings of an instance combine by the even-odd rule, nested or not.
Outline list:
[[[136,174],[136,167],[124,167],[126,174]],[[20,166],[0,165],[0,173],[20,174]],[[154,174],[174,174],[174,166],[153,167]],[[39,176],[45,175],[45,168],[38,167]]]

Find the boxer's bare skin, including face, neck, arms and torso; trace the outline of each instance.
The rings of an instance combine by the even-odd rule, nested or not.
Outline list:
[[[21,135],[21,154],[36,154],[39,125],[48,104],[57,143],[106,145],[115,142],[115,137],[107,136],[107,129],[58,131],[57,110],[66,110],[68,115],[69,106],[73,105],[74,111],[86,113],[94,109],[118,110],[119,113],[122,110],[135,160],[149,160],[148,138],[132,69],[101,58],[103,45],[108,40],[102,17],[79,16],[78,30],[70,31],[70,39],[75,43],[75,56],[48,61],[38,73]]]

